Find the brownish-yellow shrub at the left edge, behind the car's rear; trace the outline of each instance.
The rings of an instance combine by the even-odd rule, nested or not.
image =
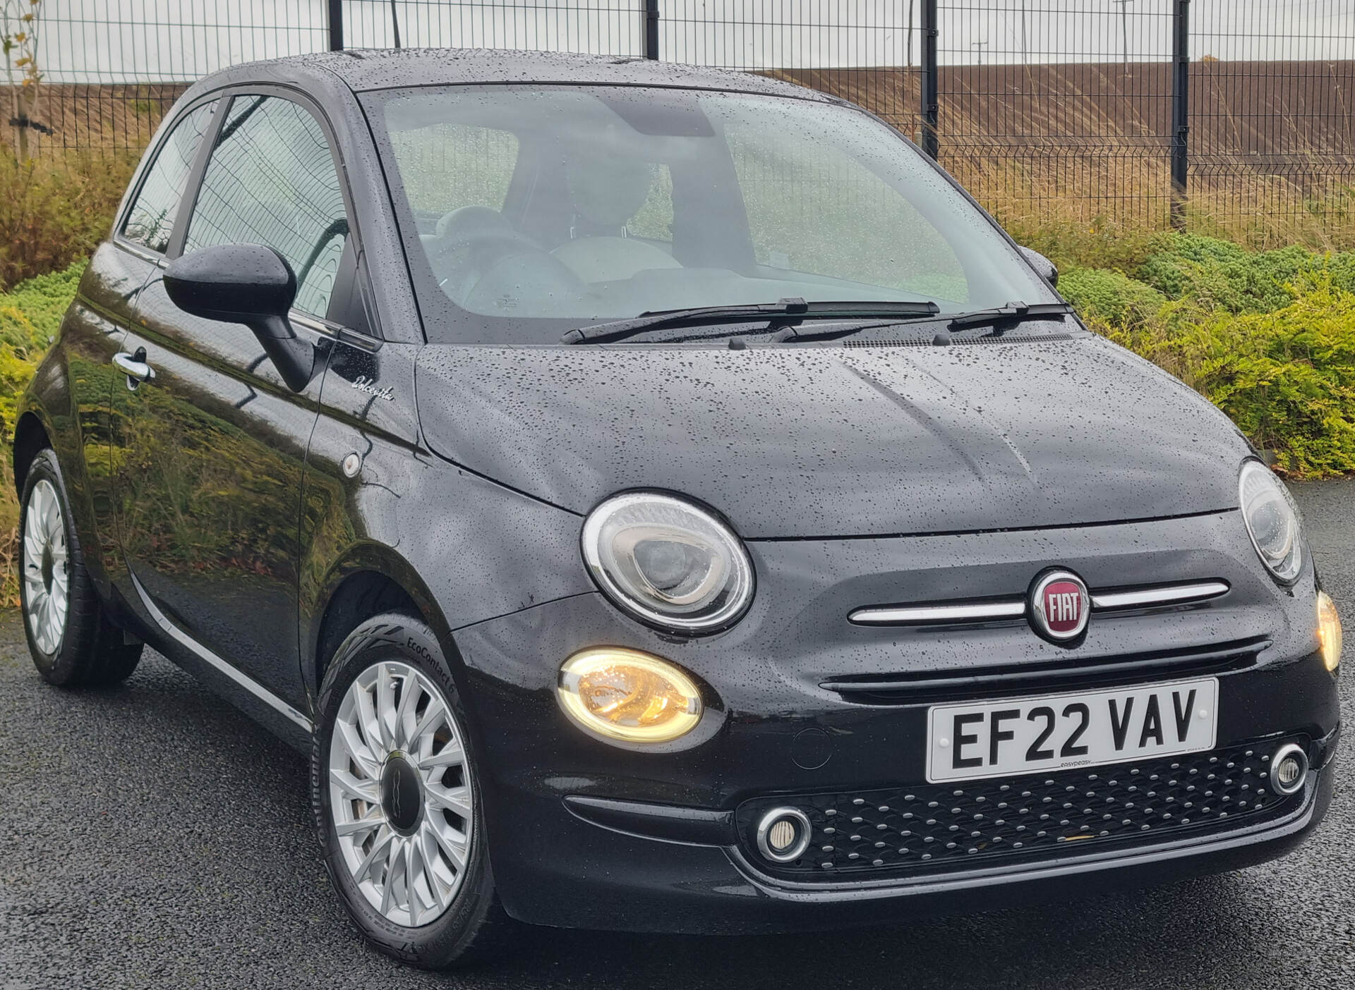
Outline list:
[[[127,156],[19,163],[0,146],[0,291],[88,257],[136,167]]]

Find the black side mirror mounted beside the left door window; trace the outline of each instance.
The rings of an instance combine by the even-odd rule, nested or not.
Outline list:
[[[165,293],[184,313],[244,324],[293,391],[316,370],[316,349],[287,320],[297,276],[287,260],[262,244],[218,244],[192,251],[165,267]]]

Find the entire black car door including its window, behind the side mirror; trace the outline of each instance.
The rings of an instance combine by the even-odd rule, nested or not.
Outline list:
[[[276,93],[230,98],[168,253],[275,248],[298,276],[293,325],[317,345],[317,374],[291,391],[248,328],[184,313],[156,275],[123,344],[152,376],[129,376],[114,402],[129,597],[199,660],[302,708],[298,521],[332,345],[324,317],[350,246],[339,176],[314,108]]]

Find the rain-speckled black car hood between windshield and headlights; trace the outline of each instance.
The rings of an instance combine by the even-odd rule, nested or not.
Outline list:
[[[748,539],[947,534],[1237,505],[1248,446],[1088,333],[953,347],[430,345],[442,456],[572,512],[667,489]]]

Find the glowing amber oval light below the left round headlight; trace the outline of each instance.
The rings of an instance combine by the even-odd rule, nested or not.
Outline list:
[[[575,722],[627,742],[668,742],[701,720],[701,692],[667,660],[637,650],[581,650],[560,668],[560,707]]]

